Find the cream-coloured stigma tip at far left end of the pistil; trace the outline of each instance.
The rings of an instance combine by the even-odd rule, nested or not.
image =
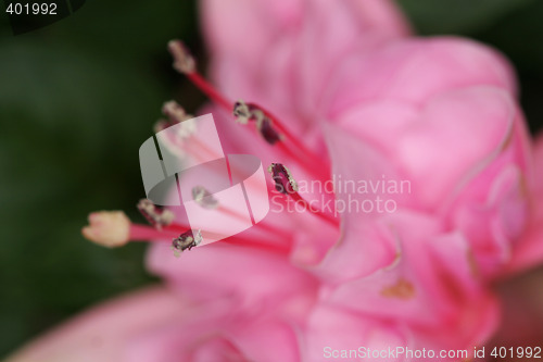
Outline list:
[[[81,229],[83,236],[103,247],[122,247],[130,237],[130,220],[122,211],[93,212],[89,224]]]

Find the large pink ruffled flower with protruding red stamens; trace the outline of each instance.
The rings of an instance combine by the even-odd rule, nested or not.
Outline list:
[[[146,203],[157,228],[118,230],[94,214],[86,229],[94,241],[112,239],[93,223],[102,219],[124,236],[116,245],[156,239],[148,266],[187,311],[134,328],[116,355],[319,361],[358,347],[483,345],[500,321],[490,283],[543,258],[543,154],[532,150],[507,62],[469,40],[411,37],[389,1],[202,7],[220,91],[175,41],[174,66],[215,101],[207,110],[226,152],[275,163],[275,186],[287,191],[272,192],[257,226],[190,252],[195,236],[181,214],[171,223]],[[245,126],[233,124],[232,109]],[[168,122],[186,118],[174,103],[164,111]],[[174,147],[195,159],[209,151],[197,136],[188,142]],[[334,195],[302,187],[330,179]],[[278,213],[287,200],[306,212]],[[182,251],[175,259],[161,240],[179,233],[186,244],[174,242]]]

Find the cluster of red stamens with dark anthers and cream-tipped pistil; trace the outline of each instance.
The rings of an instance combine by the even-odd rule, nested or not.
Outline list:
[[[260,135],[268,145],[277,147],[282,154],[303,168],[308,175],[319,180],[329,179],[329,162],[323,161],[321,157],[318,157],[311,149],[306,148],[279,118],[257,104],[245,103],[242,100],[236,103],[229,101],[227,97],[223,96],[198,73],[194,59],[180,41],[171,41],[168,49],[174,57],[174,68],[185,74],[213,102],[226,111],[232,112],[237,123],[253,125],[255,134]],[[160,121],[155,125],[155,132],[168,128],[174,124],[182,124],[178,134],[169,135],[169,138],[166,139],[166,146],[172,152],[189,153],[197,160],[205,159],[210,154],[214,155],[215,152],[206,147],[204,142],[198,137],[192,137],[195,132],[195,125],[191,122],[192,116],[185,113],[185,110],[179,104],[175,101],[166,102],[163,107],[163,113],[167,120]],[[287,166],[281,163],[272,163],[268,172],[272,174],[275,189],[278,192],[303,205],[304,210],[307,210],[321,221],[333,227],[339,227],[338,219],[323,212],[313,202],[308,202],[299,194],[298,184]],[[192,197],[202,208],[214,209],[214,211],[230,217],[244,217],[243,215],[238,215],[228,205],[218,203],[203,187],[194,187],[192,189]],[[122,246],[128,241],[159,241],[169,239],[172,240],[171,248],[176,255],[179,255],[185,250],[198,247],[202,238],[206,237],[205,230],[192,229],[187,224],[175,222],[175,215],[171,210],[155,205],[148,199],[140,200],[137,207],[151,226],[134,224],[122,212],[99,212],[89,215],[90,226],[84,228],[84,236],[108,247]],[[230,236],[224,239],[223,242],[257,247],[260,249],[264,248],[279,253],[289,252],[290,237],[280,226],[269,225],[264,220],[256,224],[255,227],[260,228],[264,236],[270,236],[274,242],[262,241],[258,238],[247,238],[242,235]]]

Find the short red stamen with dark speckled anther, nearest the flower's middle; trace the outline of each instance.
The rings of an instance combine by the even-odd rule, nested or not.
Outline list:
[[[268,167],[268,172],[272,174],[277,191],[291,197],[295,202],[301,203],[305,210],[310,211],[314,215],[317,215],[321,220],[331,224],[333,227],[339,226],[339,221],[336,217],[310,204],[310,202],[298,194],[298,183],[294,180],[290,171],[286,166],[280,163],[272,163]]]

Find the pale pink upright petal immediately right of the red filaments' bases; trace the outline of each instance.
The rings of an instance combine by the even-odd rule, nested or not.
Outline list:
[[[387,205],[393,208],[392,212],[404,205],[409,195],[408,190],[389,194],[381,187],[386,180],[401,184],[403,177],[378,149],[336,125],[323,124],[323,127],[332,161],[336,212],[342,221],[341,237],[315,242],[321,262],[311,270],[337,283],[372,273],[395,259],[393,238],[370,222],[388,214]]]

